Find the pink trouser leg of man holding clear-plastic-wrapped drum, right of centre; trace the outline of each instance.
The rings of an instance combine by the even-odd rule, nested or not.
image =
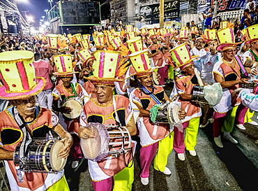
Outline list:
[[[183,122],[183,132],[179,132],[179,129],[174,128],[174,151],[176,153],[184,153],[185,152],[185,141],[184,141],[184,130],[189,125],[189,121]]]

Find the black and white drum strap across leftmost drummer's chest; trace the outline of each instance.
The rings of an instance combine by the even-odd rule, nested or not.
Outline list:
[[[13,107],[13,114],[14,114],[13,117],[15,118],[17,125],[19,125],[19,127],[23,133],[23,139],[22,139],[22,143],[20,146],[20,150],[19,150],[20,160],[22,160],[25,155],[26,148],[28,146],[28,144],[26,144],[26,141],[31,140],[32,135],[28,131],[24,121],[22,120],[22,116],[18,113],[17,108],[15,108],[15,107]]]

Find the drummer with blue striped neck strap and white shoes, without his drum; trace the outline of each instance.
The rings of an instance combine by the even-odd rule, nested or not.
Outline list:
[[[151,121],[151,115],[157,115],[159,104],[162,102],[170,102],[167,94],[161,86],[153,86],[151,64],[148,57],[148,50],[135,52],[129,55],[132,65],[137,75],[139,87],[132,91],[130,100],[139,108],[139,119],[137,127],[139,129],[139,138],[142,148],[139,151],[139,160],[141,165],[141,181],[143,185],[149,184],[149,173],[151,162],[154,159],[154,169],[161,171],[166,175],[171,171],[166,167],[167,157],[173,149],[173,129],[169,128],[169,124],[158,124],[155,119]],[[180,119],[185,117],[185,112],[179,110]],[[176,127],[174,128],[176,129]],[[158,149],[158,152],[157,152]]]

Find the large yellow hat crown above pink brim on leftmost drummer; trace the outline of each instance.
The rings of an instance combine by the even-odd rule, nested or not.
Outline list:
[[[17,50],[0,53],[0,78],[6,92],[29,92],[36,85],[33,52]]]

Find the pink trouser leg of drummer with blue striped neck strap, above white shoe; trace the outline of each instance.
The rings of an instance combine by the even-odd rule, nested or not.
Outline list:
[[[150,176],[151,162],[157,153],[158,142],[150,146],[144,146],[139,150],[139,163],[141,165],[141,173],[139,177],[148,178]]]

